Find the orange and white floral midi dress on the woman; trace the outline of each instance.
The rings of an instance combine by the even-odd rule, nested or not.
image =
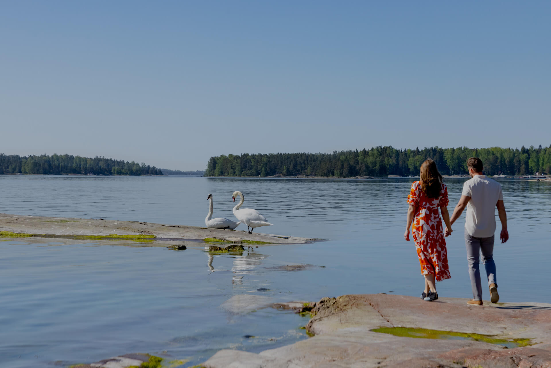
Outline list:
[[[447,264],[446,240],[442,231],[439,207],[448,205],[447,188],[441,184],[440,197],[428,198],[419,182],[413,182],[408,203],[415,206],[413,240],[421,264],[421,274],[435,274],[436,281],[450,279]]]

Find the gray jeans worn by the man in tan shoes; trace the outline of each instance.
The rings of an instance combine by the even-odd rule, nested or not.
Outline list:
[[[480,252],[482,252],[482,263],[488,276],[488,286],[498,283],[495,277],[494,263],[494,236],[489,238],[476,238],[465,231],[465,246],[467,247],[467,260],[469,261],[469,276],[471,277],[471,287],[473,289],[474,300],[482,300],[482,284],[480,282]]]

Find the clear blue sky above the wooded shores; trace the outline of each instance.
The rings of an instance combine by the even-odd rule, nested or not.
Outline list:
[[[550,1],[3,1],[0,153],[551,144]]]

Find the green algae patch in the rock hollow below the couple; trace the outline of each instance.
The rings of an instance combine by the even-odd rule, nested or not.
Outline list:
[[[418,339],[443,339],[443,340],[472,340],[483,343],[503,345],[507,348],[518,348],[532,345],[531,339],[496,339],[491,335],[477,333],[464,333],[455,331],[431,330],[426,328],[409,327],[381,327],[372,329],[373,332],[387,333],[399,337],[412,337]]]

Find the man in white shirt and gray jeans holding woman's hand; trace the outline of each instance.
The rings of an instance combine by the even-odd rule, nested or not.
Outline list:
[[[489,179],[482,173],[482,160],[471,157],[467,160],[469,174],[472,179],[463,183],[463,193],[459,200],[450,222],[463,213],[467,207],[467,218],[465,221],[465,245],[467,247],[467,259],[469,261],[469,276],[473,289],[473,300],[468,305],[482,305],[482,285],[480,283],[480,252],[482,252],[482,263],[488,276],[490,287],[490,300],[492,303],[499,301],[498,283],[495,276],[494,253],[494,232],[495,232],[495,207],[498,207],[499,220],[501,221],[501,243],[509,239],[507,232],[507,214],[503,205],[503,193],[501,184]],[[446,230],[446,236],[449,233]]]

